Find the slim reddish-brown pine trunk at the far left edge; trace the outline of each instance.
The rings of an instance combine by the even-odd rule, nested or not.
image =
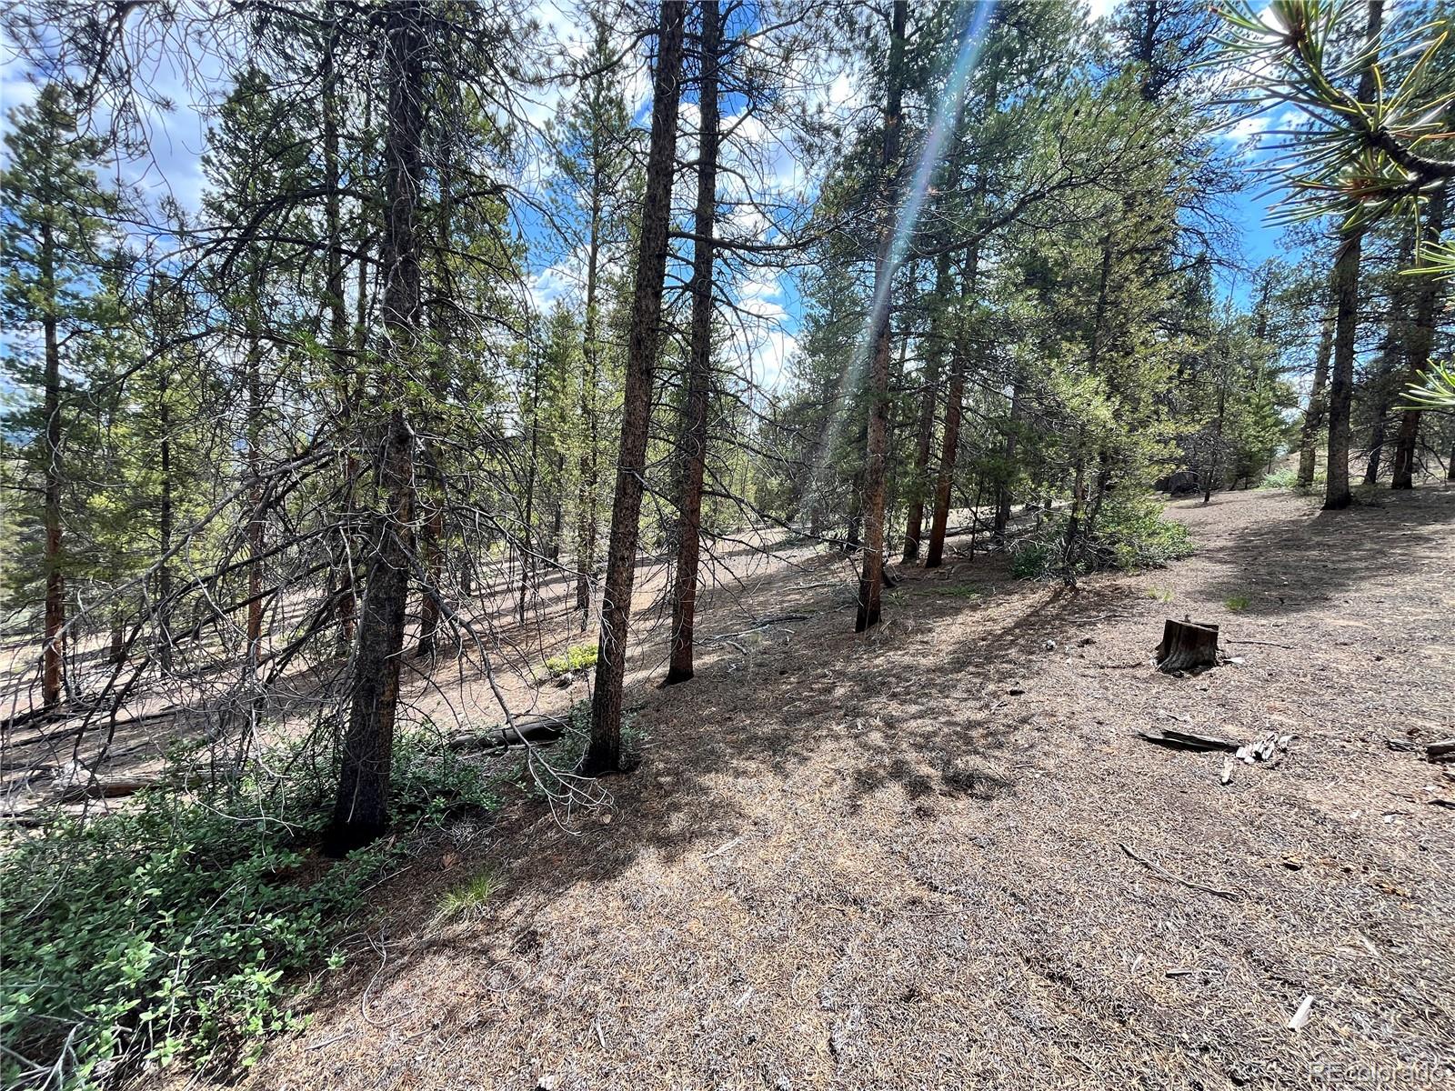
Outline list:
[[[61,575],[61,342],[57,329],[55,240],[41,225],[41,291],[45,305],[45,646],[41,653],[41,704],[61,703],[65,688],[65,578]]]

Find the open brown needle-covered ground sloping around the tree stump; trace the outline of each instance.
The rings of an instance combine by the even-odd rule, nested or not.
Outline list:
[[[911,567],[867,639],[835,562],[765,567],[698,630],[806,621],[669,690],[643,652],[610,812],[442,831],[242,1085],[1449,1085],[1455,780],[1411,743],[1455,735],[1455,490],[1168,511],[1186,562]],[[1154,671],[1184,614],[1241,662]],[[1221,786],[1164,714],[1293,738]]]

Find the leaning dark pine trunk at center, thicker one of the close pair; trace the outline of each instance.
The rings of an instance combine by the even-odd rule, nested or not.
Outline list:
[[[646,193],[637,247],[631,327],[627,335],[626,390],[621,406],[621,448],[611,540],[601,602],[597,647],[597,688],[591,703],[591,743],[579,772],[595,777],[621,765],[621,685],[626,678],[636,580],[637,519],[646,476],[646,439],[652,412],[652,368],[661,345],[662,281],[666,275],[668,221],[677,153],[677,109],[682,74],[682,22],[687,4],[663,0],[658,25],[658,64],[652,87],[652,138],[647,148]]]

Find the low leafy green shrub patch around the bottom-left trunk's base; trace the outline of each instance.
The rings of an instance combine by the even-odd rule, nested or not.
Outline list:
[[[0,1085],[247,1065],[266,1034],[301,1023],[290,976],[342,964],[342,925],[403,852],[317,855],[332,770],[310,756],[274,755],[271,768],[297,772],[250,774],[228,794],[148,790],[0,855]],[[393,783],[396,818],[415,823],[496,803],[438,733],[399,736]]]

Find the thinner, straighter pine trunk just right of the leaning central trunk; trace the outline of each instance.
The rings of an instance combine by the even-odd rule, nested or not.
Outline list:
[[[703,524],[703,464],[707,455],[707,394],[713,352],[713,231],[717,220],[717,0],[701,0],[701,118],[697,153],[697,209],[693,244],[693,329],[682,407],[681,503],[677,524],[677,576],[672,582],[672,655],[666,684],[693,676],[693,623],[697,615],[697,563]]]

